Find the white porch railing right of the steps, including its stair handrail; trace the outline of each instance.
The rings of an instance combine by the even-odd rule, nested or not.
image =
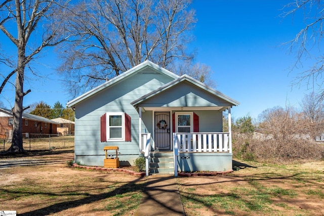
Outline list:
[[[178,176],[179,152],[232,153],[230,133],[173,133],[174,175]]]

